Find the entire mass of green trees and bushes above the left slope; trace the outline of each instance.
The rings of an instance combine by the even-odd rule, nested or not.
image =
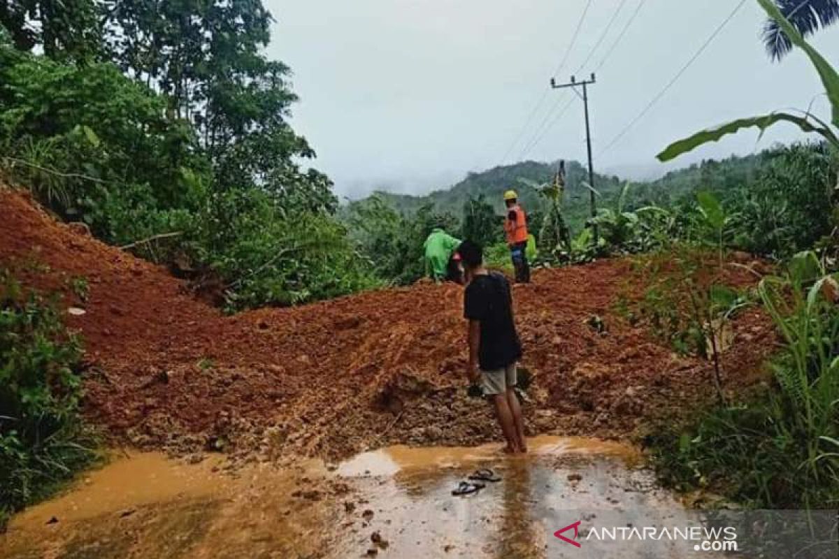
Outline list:
[[[55,21],[58,4],[4,6],[0,163],[51,210],[217,275],[231,308],[380,283],[334,217],[330,179],[301,166],[314,152],[287,122],[296,96],[263,54],[259,0],[91,1]]]

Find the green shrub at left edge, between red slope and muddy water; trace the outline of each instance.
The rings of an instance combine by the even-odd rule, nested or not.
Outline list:
[[[81,341],[54,303],[0,271],[0,515],[42,499],[90,463],[79,415]]]

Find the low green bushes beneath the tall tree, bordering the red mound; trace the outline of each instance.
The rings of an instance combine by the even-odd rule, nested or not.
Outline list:
[[[228,286],[229,308],[292,305],[378,287],[333,216],[285,212],[260,189],[216,194],[192,233],[198,258]]]

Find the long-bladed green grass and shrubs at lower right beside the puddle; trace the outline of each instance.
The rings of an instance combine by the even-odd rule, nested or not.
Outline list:
[[[776,386],[748,405],[721,406],[651,443],[659,472],[680,489],[711,486],[763,508],[839,504],[839,283],[802,253],[759,287],[784,347]]]

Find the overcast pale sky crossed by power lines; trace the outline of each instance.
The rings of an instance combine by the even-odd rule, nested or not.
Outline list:
[[[572,95],[544,92],[586,1],[265,0],[277,19],[268,54],[294,71],[300,103],[293,107],[292,125],[315,148],[312,166],[331,176],[338,194],[357,198],[376,188],[422,194],[500,163],[585,160],[581,101],[533,148],[525,146]],[[583,75],[601,64],[640,1],[626,0]],[[567,80],[586,60],[620,4],[593,0],[558,79]],[[817,97],[823,88],[803,54],[794,52],[780,64],[769,61],[759,39],[764,14],[747,0],[654,109],[602,153],[735,5],[646,0],[591,88],[598,171],[649,173],[655,153],[668,142],[734,117],[805,109],[814,97],[816,111],[828,113],[824,97]],[[839,61],[839,27],[813,42],[828,60]],[[757,132],[741,132],[678,163],[752,153],[797,137],[787,125],[759,144]]]

